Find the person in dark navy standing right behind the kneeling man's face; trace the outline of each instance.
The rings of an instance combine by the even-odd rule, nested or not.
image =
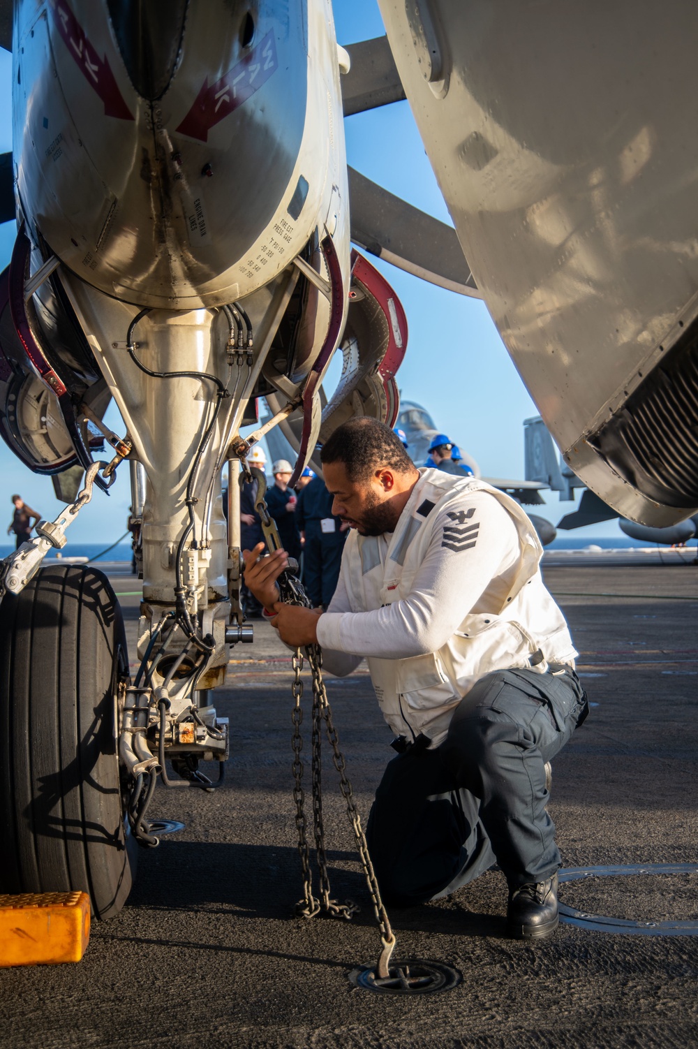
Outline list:
[[[340,576],[349,526],[332,514],[332,496],[322,477],[312,477],[299,495],[296,522],[304,537],[303,585],[313,607],[326,608]]]

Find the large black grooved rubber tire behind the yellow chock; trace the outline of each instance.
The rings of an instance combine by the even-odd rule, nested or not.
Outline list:
[[[97,918],[131,891],[116,686],[124,621],[107,577],[41,570],[0,604],[0,893],[89,893]]]

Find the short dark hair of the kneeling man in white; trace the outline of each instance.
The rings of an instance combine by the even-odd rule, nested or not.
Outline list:
[[[396,473],[415,469],[397,434],[385,423],[366,415],[339,426],[323,445],[320,458],[323,464],[342,463],[351,481],[368,480],[375,470],[385,467]]]

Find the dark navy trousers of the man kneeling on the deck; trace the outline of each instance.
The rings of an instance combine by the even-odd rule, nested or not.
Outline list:
[[[588,709],[569,667],[498,670],[461,700],[440,747],[393,758],[367,826],[386,902],[439,899],[495,862],[511,887],[551,877],[560,853],[544,765]]]

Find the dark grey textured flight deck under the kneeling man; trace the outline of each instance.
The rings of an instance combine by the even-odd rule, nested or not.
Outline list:
[[[550,811],[566,868],[698,864],[694,556],[545,555],[592,702],[553,766]],[[110,576],[125,595],[134,651],[136,585],[115,566]],[[698,874],[691,869],[569,881],[561,886],[568,907],[646,924],[628,935],[565,923],[535,945],[505,939],[505,885],[492,871],[449,900],[392,914],[396,957],[456,966],[459,987],[409,999],[354,988],[348,975],[375,959],[378,936],[329,758],[333,889],[362,911],[349,923],[292,917],[301,884],[290,665],[269,626],[256,623],[256,631],[254,646],[235,651],[230,687],[217,697],[232,726],[225,786],[213,795],[158,787],[153,814],[186,830],[140,853],[128,905],[93,926],[80,964],[0,971],[1,1046],[698,1044],[698,936],[691,935]],[[392,754],[390,732],[365,670],[328,687],[367,814]],[[683,923],[684,935],[648,935],[659,922]]]

